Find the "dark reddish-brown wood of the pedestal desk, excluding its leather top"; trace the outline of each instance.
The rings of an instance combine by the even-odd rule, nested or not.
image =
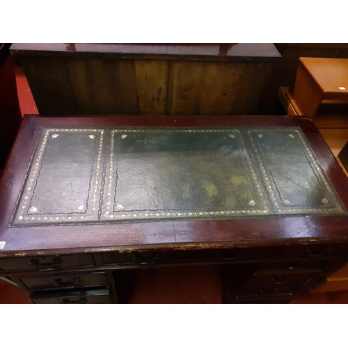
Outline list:
[[[179,264],[219,265],[224,303],[286,303],[347,262],[347,214],[10,226],[41,128],[110,126],[301,127],[315,161],[348,207],[348,178],[312,120],[25,116],[1,180],[0,276],[15,281],[34,303],[117,303],[127,290],[127,270]]]

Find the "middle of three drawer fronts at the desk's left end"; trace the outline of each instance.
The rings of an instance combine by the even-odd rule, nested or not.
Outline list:
[[[104,272],[90,274],[60,274],[59,276],[44,276],[36,278],[21,278],[29,290],[58,289],[68,287],[83,287],[88,285],[107,285],[108,279]]]

